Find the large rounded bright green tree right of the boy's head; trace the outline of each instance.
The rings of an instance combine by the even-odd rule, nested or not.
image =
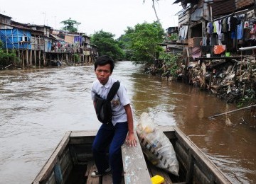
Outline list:
[[[157,22],[142,23],[125,30],[127,50],[135,64],[151,64],[163,49],[158,45],[164,40],[164,29]]]

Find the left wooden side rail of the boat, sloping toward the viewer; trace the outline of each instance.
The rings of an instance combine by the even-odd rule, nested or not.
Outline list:
[[[36,176],[36,179],[33,180],[33,183],[41,183],[41,181],[46,180],[48,176],[50,176],[50,172],[53,171],[55,164],[58,161],[58,156],[60,156],[65,147],[68,145],[69,137],[71,132],[67,132],[63,139],[60,141],[58,146],[53,151],[53,154],[50,156],[50,159],[46,161],[46,164],[43,166],[42,170]]]

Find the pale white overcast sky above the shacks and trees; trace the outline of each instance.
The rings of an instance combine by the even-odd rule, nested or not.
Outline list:
[[[173,5],[174,1],[159,0],[156,3],[164,29],[178,25],[178,17],[174,15],[182,8],[180,4]],[[151,0],[146,0],[145,4],[143,0],[6,0],[0,4],[0,13],[10,16],[13,21],[59,29],[63,27],[61,21],[71,18],[81,23],[78,31],[87,35],[104,30],[118,38],[128,26],[156,21]]]

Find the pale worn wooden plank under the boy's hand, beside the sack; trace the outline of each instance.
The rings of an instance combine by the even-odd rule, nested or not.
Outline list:
[[[124,166],[124,183],[141,184],[151,183],[149,170],[139,144],[137,134],[137,146],[130,147],[126,143],[122,145],[122,160]]]

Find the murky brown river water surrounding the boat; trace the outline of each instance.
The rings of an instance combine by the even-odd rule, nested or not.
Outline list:
[[[186,84],[117,62],[112,76],[132,100],[134,124],[149,113],[177,125],[233,183],[256,183],[256,119]],[[31,183],[69,130],[100,127],[90,98],[93,66],[0,71],[0,183]],[[225,125],[229,118],[232,125]]]

